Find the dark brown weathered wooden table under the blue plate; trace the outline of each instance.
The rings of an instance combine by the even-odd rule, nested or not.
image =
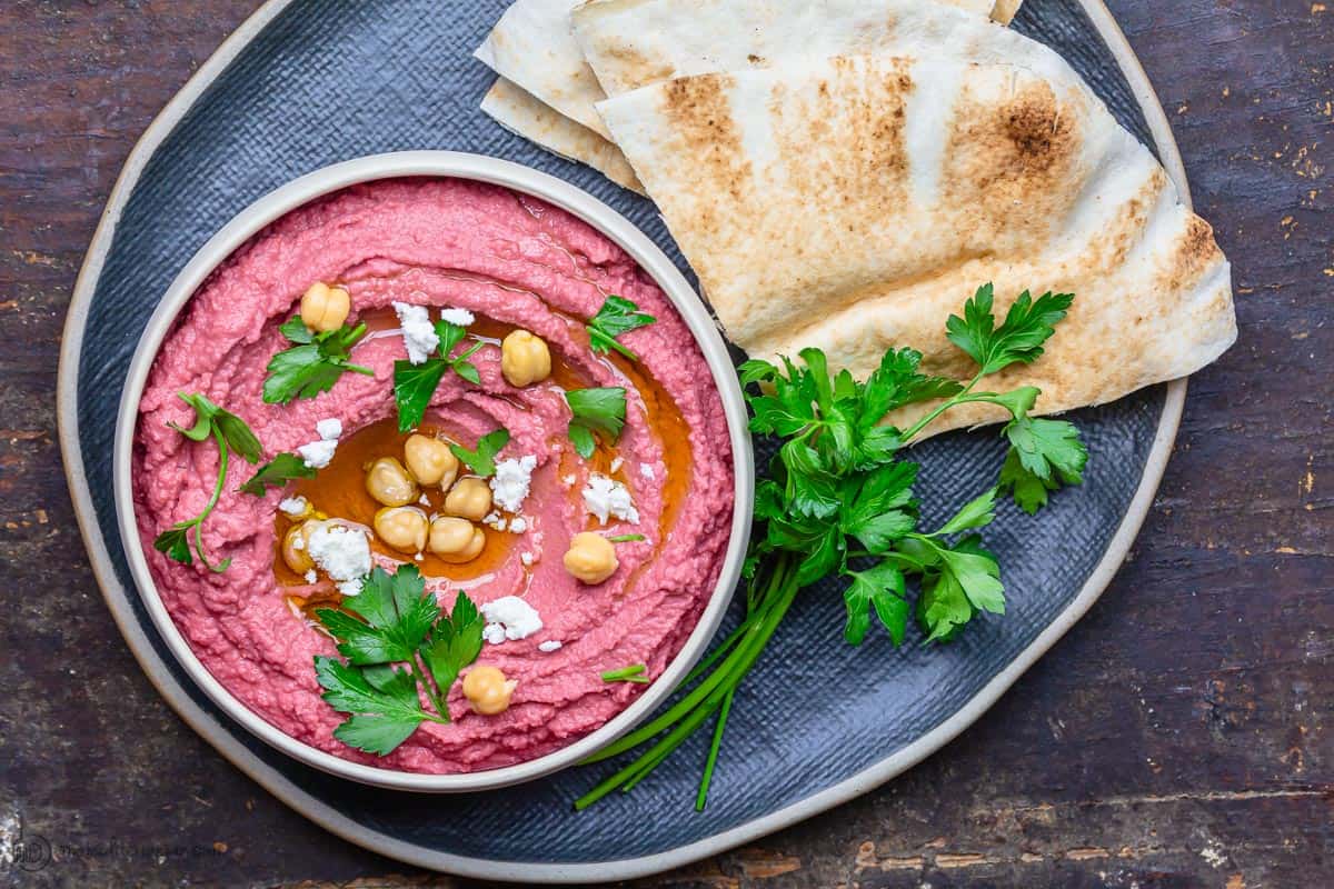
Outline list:
[[[57,852],[0,866],[16,885],[464,885],[334,838],[185,728],[103,608],[65,493],[56,355],[84,249],[135,140],[255,5],[0,9],[0,837],[21,822]],[[1139,541],[926,764],[638,885],[1334,886],[1334,1],[1110,5],[1235,264],[1242,331],[1191,383]]]

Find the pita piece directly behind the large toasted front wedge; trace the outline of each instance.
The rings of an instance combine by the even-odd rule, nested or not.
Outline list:
[[[990,11],[990,0],[592,0],[571,23],[603,91],[619,96],[674,77],[782,68],[800,59],[1033,56],[1041,44],[1019,35],[998,39],[1010,32],[986,17]]]

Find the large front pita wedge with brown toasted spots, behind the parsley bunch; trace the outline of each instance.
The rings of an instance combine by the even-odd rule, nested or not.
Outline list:
[[[986,384],[1037,385],[1050,413],[1189,375],[1237,336],[1210,227],[1073,72],[842,57],[599,108],[752,356],[819,347],[864,377],[911,345],[964,379],[944,321],[979,284],[998,312],[1025,289],[1071,292],[1046,355]],[[932,432],[1002,419],[968,408]]]

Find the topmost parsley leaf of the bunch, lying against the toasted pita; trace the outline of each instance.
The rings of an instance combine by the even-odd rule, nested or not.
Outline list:
[[[963,317],[951,315],[946,321],[950,341],[978,363],[983,375],[1002,371],[1017,361],[1031,364],[1042,356],[1042,344],[1055,325],[1066,317],[1073,293],[1043,293],[1034,300],[1027,291],[1010,307],[1005,323],[996,328],[991,315],[994,288],[986,284],[963,307]]]

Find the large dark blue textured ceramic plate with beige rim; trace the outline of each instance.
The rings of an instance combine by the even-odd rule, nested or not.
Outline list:
[[[894,649],[879,634],[852,649],[842,642],[836,592],[808,590],[736,696],[702,814],[692,801],[706,733],[632,793],[580,814],[571,801],[606,765],[442,806],[438,797],[362,786],[287,758],[188,680],[133,590],[109,460],[125,372],[172,279],[232,216],[303,173],[371,153],[456,149],[536,167],[611,204],[684,271],[648,201],[478,111],[492,77],[471,52],[504,5],[269,0],[229,37],[153,123],[111,195],[65,327],[60,440],[121,633],[168,702],[237,768],[334,833],[411,864],[527,884],[628,878],[864,793],[976,720],[1089,609],[1125,558],[1171,450],[1186,385],[1073,415],[1091,452],[1085,484],[1035,518],[1006,506],[987,529],[1006,565],[1005,617],[979,621],[947,646]],[[1065,55],[1186,192],[1162,109],[1099,0],[1029,0],[1015,28]],[[991,484],[1003,446],[966,433],[915,454],[922,500],[938,510],[924,517],[930,524]],[[806,668],[812,654],[818,669]],[[848,692],[831,697],[830,688]]]

